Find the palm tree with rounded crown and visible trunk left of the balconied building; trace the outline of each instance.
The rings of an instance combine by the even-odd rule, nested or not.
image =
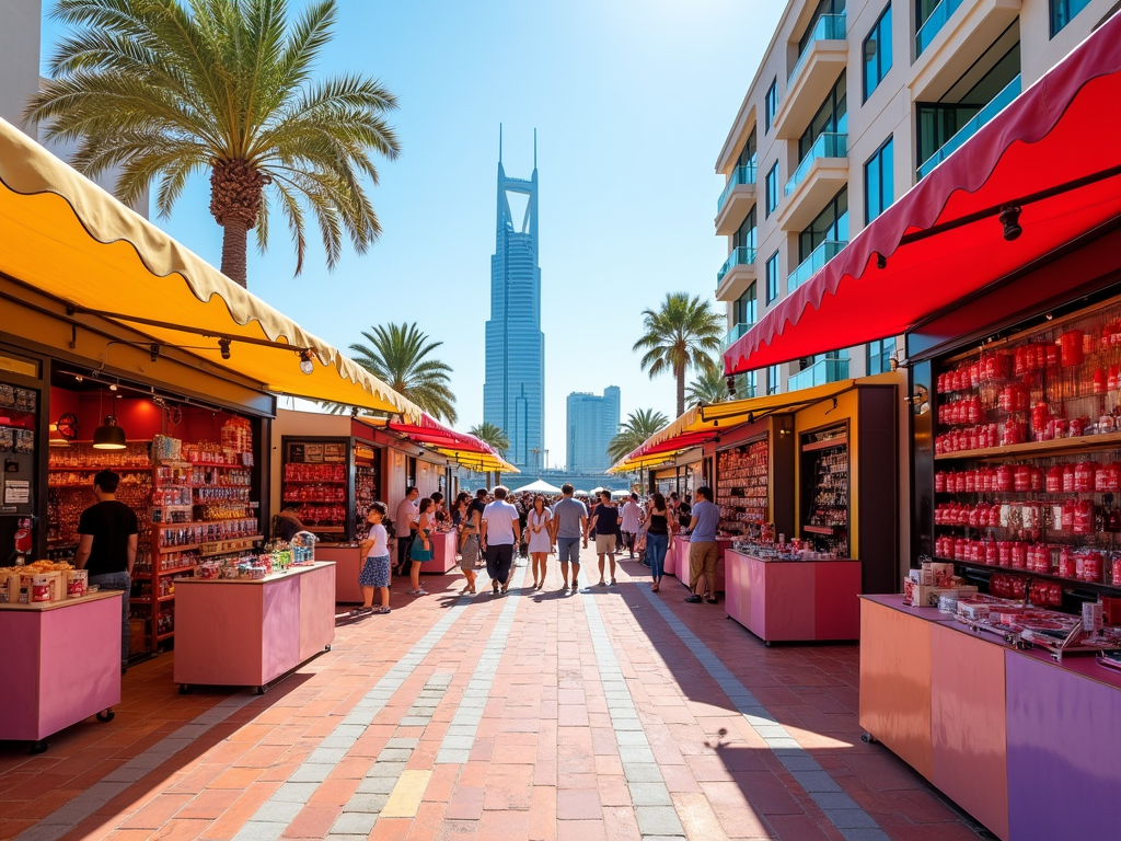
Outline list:
[[[684,292],[667,294],[657,312],[642,311],[646,333],[634,342],[634,350],[646,351],[642,370],[649,371],[650,379],[674,375],[678,417],[685,412],[685,373],[691,366],[702,371],[713,367],[710,353],[720,350],[722,321],[700,295],[689,298]]]

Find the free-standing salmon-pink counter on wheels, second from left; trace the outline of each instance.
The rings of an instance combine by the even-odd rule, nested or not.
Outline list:
[[[331,648],[335,565],[317,561],[287,573],[175,582],[175,682],[253,686]]]

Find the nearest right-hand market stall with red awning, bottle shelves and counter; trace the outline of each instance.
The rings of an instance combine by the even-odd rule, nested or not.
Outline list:
[[[906,333],[917,607],[862,600],[861,723],[1006,841],[1115,834],[1119,100],[1113,16],[725,354]]]

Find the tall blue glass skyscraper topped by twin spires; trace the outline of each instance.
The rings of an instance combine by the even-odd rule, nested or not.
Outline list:
[[[510,193],[528,196],[520,230],[515,229]],[[483,419],[506,432],[510,440],[507,458],[516,466],[530,470],[540,468],[545,446],[545,335],[537,256],[537,132],[534,175],[526,181],[508,177],[502,168],[500,129]]]

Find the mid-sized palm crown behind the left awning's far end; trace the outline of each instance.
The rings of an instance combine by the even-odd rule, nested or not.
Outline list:
[[[455,395],[447,387],[451,366],[426,357],[443,342],[429,342],[416,323],[374,326],[362,332],[369,344],[352,344],[354,361],[437,420],[454,424]]]

